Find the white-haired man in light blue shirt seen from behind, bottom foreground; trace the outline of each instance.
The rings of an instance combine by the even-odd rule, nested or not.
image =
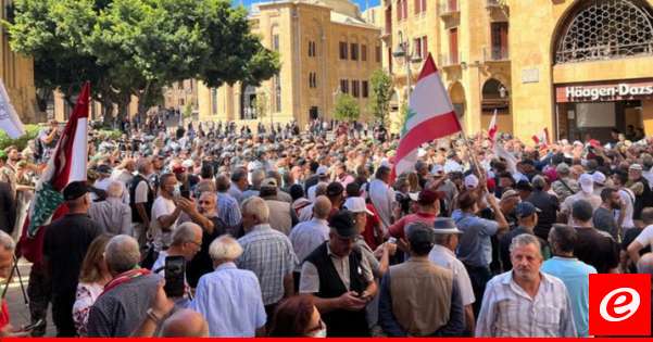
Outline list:
[[[266,314],[259,279],[234,263],[242,248],[222,236],[211,243],[209,254],[215,270],[200,278],[191,308],[204,316],[211,337],[263,335]]]

